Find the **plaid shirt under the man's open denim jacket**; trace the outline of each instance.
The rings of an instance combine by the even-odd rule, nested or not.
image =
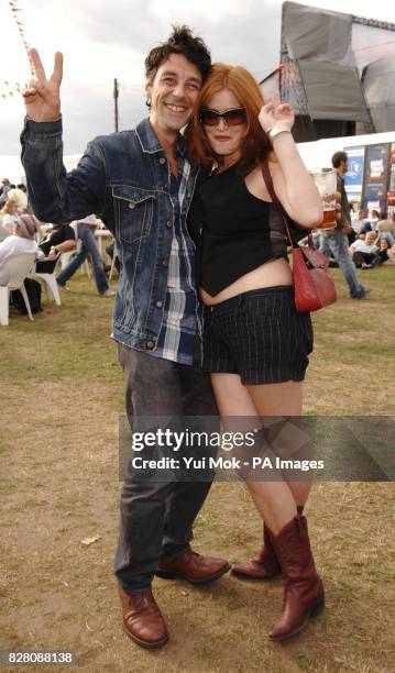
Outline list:
[[[169,192],[174,212],[174,228],[168,261],[167,291],[164,319],[153,357],[172,360],[179,364],[193,363],[194,341],[197,328],[197,297],[194,282],[195,245],[180,217],[186,194],[190,164],[182,164],[179,177],[171,174]]]

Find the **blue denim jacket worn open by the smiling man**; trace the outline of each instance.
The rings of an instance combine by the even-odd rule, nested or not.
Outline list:
[[[121,276],[113,313],[117,341],[154,351],[163,321],[173,239],[166,154],[147,119],[135,130],[96,137],[77,168],[63,166],[62,120],[26,121],[21,135],[30,203],[46,222],[97,214],[113,234]],[[183,155],[183,139],[178,152]],[[183,203],[186,218],[198,166]]]

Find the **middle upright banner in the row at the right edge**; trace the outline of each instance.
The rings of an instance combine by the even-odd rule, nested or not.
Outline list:
[[[383,211],[386,208],[389,173],[389,144],[366,146],[363,207]]]

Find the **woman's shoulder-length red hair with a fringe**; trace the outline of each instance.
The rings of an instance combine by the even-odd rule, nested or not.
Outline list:
[[[229,89],[246,113],[245,132],[241,145],[241,168],[250,169],[272,152],[272,143],[262,129],[257,115],[264,104],[263,96],[254,77],[241,66],[229,66],[216,63],[200,89],[191,121],[186,131],[190,158],[212,166],[217,156],[212,152],[205,133],[199,114],[201,108],[222,89]]]

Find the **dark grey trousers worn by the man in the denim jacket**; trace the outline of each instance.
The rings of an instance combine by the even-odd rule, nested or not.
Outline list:
[[[127,385],[127,413],[133,431],[141,431],[144,417],[150,416],[187,416],[194,422],[194,416],[218,415],[210,375],[201,372],[197,357],[196,364],[188,366],[121,343],[118,350]],[[200,456],[209,456],[217,450],[201,445],[199,451]],[[191,455],[187,446],[183,446],[183,455]],[[142,481],[129,462],[114,561],[116,576],[125,592],[133,594],[150,588],[160,559],[171,560],[189,549],[193,523],[210,486],[211,481]]]

